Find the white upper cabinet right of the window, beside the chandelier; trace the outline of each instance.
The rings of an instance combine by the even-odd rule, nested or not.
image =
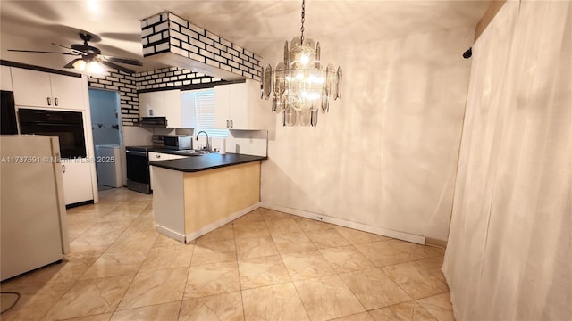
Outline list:
[[[260,101],[260,83],[214,86],[214,122],[217,128],[266,129],[272,113]]]

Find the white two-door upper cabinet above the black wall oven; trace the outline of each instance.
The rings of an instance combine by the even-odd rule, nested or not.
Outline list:
[[[14,101],[19,106],[84,110],[84,80],[12,68]]]

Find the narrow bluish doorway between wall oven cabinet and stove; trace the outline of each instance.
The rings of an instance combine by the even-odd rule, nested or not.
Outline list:
[[[89,88],[98,189],[122,184],[122,113],[119,93]]]

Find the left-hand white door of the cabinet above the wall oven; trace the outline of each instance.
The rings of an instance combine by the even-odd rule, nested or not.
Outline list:
[[[49,73],[12,68],[12,84],[16,105],[54,107]]]

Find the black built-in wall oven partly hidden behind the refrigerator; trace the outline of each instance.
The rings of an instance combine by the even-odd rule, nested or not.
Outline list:
[[[85,158],[86,139],[80,111],[18,110],[21,134],[57,136],[62,158]]]

